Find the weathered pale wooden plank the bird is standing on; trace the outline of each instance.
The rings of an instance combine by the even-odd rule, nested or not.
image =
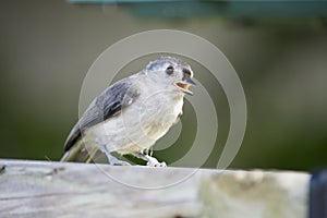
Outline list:
[[[0,217],[304,218],[308,179],[296,172],[0,160]]]

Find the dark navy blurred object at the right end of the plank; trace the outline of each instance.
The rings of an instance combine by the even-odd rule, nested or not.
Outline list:
[[[327,218],[327,169],[312,175],[308,218]]]

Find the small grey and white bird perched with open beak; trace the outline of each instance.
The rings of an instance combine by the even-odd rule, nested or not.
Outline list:
[[[108,86],[71,130],[61,161],[93,162],[104,153],[113,166],[130,166],[119,156],[132,155],[167,167],[148,150],[182,116],[184,97],[196,85],[193,74],[186,62],[162,56]]]

